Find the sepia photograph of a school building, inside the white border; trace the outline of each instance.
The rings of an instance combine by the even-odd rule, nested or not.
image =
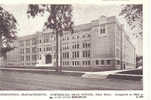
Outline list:
[[[3,90],[143,90],[143,5],[0,4]]]

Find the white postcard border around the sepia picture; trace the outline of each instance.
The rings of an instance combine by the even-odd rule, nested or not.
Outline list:
[[[133,97],[91,97],[88,99],[80,99],[80,100],[150,100],[151,98],[149,97],[149,93],[151,93],[150,90],[150,80],[151,78],[150,76],[150,70],[151,70],[151,62],[149,61],[151,58],[149,51],[151,51],[150,47],[151,47],[151,40],[150,40],[150,28],[151,28],[151,23],[149,23],[149,17],[151,18],[151,12],[149,12],[149,1],[150,0],[0,0],[0,4],[29,4],[29,3],[50,3],[50,4],[103,4],[103,5],[108,5],[108,4],[143,4],[143,15],[144,15],[144,24],[143,24],[143,57],[144,57],[144,98],[142,99],[138,99],[138,98],[133,98]],[[151,2],[150,2],[151,4]],[[150,16],[149,16],[150,13]],[[150,28],[149,28],[150,25]],[[150,45],[149,45],[150,44]],[[150,63],[149,63],[150,62]],[[82,91],[0,91],[0,93],[22,93],[22,92],[28,92],[28,93],[52,93],[52,92],[82,92]],[[83,91],[83,92],[98,92],[98,91]],[[105,93],[105,92],[110,92],[110,93],[116,93],[116,92],[140,92],[142,93],[142,91],[99,91],[101,93]],[[20,96],[0,96],[1,100],[51,100],[48,97],[20,97]],[[57,100],[57,99],[54,99]],[[59,99],[62,100],[62,99]],[[64,99],[66,100],[66,99]],[[77,100],[77,99],[75,99]]]

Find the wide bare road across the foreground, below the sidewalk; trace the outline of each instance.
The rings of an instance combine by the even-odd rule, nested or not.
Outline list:
[[[0,90],[141,90],[142,81],[0,70]]]

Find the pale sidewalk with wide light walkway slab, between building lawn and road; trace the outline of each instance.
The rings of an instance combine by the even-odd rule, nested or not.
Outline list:
[[[83,78],[95,78],[95,79],[105,79],[108,75],[121,72],[122,70],[113,70],[113,71],[102,71],[102,72],[84,72],[84,71],[67,71],[63,70],[61,73],[56,72],[56,70],[50,69],[25,69],[25,68],[0,68],[4,71],[19,71],[19,72],[37,72],[44,74],[64,74],[64,75],[73,75],[80,76]]]

